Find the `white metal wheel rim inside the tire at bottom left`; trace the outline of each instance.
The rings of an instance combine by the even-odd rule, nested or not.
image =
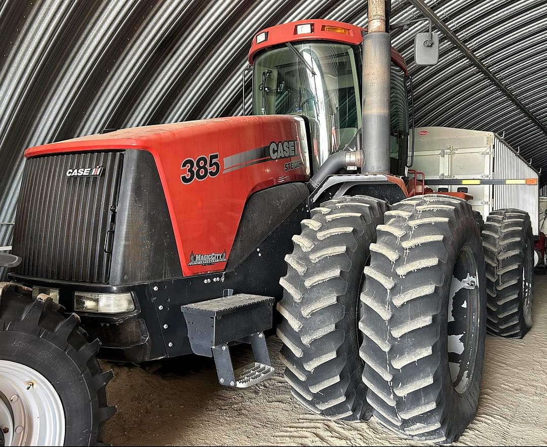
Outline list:
[[[5,445],[63,445],[65,412],[53,385],[24,364],[0,360],[0,427]]]

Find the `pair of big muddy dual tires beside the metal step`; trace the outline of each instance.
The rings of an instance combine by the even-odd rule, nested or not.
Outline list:
[[[432,195],[386,211],[341,197],[302,224],[278,305],[293,395],[331,419],[374,413],[405,437],[453,442],[476,413],[486,334],[470,205]]]

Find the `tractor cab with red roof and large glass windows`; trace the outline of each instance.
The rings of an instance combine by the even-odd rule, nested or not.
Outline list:
[[[314,172],[361,127],[363,32],[348,23],[306,20],[266,28],[253,39],[253,114],[307,117]],[[392,48],[390,168],[401,176],[408,156],[407,74]]]

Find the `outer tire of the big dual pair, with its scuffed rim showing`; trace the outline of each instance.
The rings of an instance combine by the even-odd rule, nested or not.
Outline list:
[[[485,267],[467,202],[409,198],[385,213],[361,294],[366,400],[404,437],[449,444],[473,420],[486,337]]]

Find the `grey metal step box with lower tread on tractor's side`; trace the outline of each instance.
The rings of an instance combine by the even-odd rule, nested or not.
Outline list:
[[[274,301],[240,293],[181,307],[192,351],[214,357],[220,384],[247,388],[274,374],[264,336],[272,327]],[[234,370],[231,342],[251,344],[255,362]]]

